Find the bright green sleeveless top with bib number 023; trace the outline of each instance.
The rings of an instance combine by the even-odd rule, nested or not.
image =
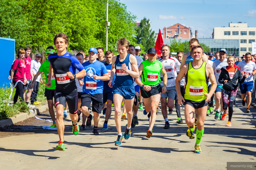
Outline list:
[[[162,69],[162,63],[158,60],[155,62],[149,62],[145,60],[142,62],[143,71],[141,73],[142,83],[145,85],[157,85],[161,82],[160,72]]]

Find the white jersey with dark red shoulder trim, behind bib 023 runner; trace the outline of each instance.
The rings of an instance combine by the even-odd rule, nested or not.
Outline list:
[[[175,78],[177,77],[177,70],[179,70],[181,63],[179,63],[179,60],[177,60],[174,57],[169,57],[167,60],[164,60],[163,58],[160,58],[158,60],[164,64],[167,77],[172,78],[167,80],[166,87],[175,86]],[[162,73],[160,73],[160,78],[163,78]],[[164,86],[163,81],[161,81],[161,86]]]

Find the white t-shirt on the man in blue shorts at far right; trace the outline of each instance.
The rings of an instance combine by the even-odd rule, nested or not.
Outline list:
[[[240,68],[240,71],[245,72],[247,74],[247,78],[245,79],[245,82],[254,81],[252,72],[256,69],[255,62],[250,61],[249,63],[245,62],[245,60],[240,61],[237,65]]]

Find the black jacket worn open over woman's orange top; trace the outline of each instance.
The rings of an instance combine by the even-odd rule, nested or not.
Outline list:
[[[238,82],[240,84],[242,84],[245,81],[245,77],[242,78],[241,72],[240,70],[238,70],[235,67],[235,74],[234,77],[232,78],[232,80],[230,80],[229,78],[229,73],[227,71],[228,66],[222,67],[220,70],[220,75],[219,75],[219,83],[223,84],[223,89],[227,90],[227,91],[232,91],[234,89],[236,89],[236,87],[238,87],[238,83],[236,82],[238,80]],[[224,80],[228,80],[226,84],[224,84]]]

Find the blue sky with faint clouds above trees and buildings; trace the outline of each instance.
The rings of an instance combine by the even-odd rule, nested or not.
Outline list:
[[[199,38],[212,38],[214,27],[229,27],[229,23],[246,22],[256,27],[256,0],[119,0],[137,21],[151,21],[156,33],[176,23],[198,30]]]

